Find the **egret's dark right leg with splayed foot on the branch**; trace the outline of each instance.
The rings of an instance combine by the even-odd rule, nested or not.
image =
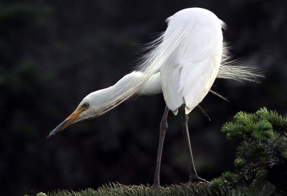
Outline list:
[[[190,145],[190,140],[189,140],[187,121],[188,121],[188,114],[185,114],[185,112],[183,112],[182,127],[183,127],[183,133],[184,133],[184,136],[185,136],[185,139],[186,139],[186,143],[187,143],[189,159],[190,159],[190,166],[191,166],[191,172],[190,172],[190,176],[189,176],[189,183],[188,183],[188,185],[190,186],[191,183],[193,183],[193,182],[207,182],[208,183],[208,181],[206,181],[206,180],[204,180],[202,178],[199,178],[197,176],[196,171],[195,171],[194,163],[193,163],[193,157],[192,157],[192,151],[191,151],[191,145]]]

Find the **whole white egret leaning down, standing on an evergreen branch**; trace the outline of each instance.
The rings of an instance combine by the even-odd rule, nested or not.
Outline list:
[[[150,43],[150,51],[141,58],[137,69],[124,76],[114,86],[95,91],[86,96],[75,112],[57,126],[48,137],[84,119],[99,116],[134,95],[163,93],[166,102],[160,123],[160,141],[154,186],[159,186],[160,160],[167,114],[175,115],[184,105],[183,131],[185,134],[191,174],[189,184],[207,182],[197,176],[187,128],[188,114],[210,91],[216,77],[235,80],[255,80],[260,76],[245,65],[230,65],[228,51],[222,37],[224,22],[211,11],[202,8],[183,9],[166,22],[166,31]]]

